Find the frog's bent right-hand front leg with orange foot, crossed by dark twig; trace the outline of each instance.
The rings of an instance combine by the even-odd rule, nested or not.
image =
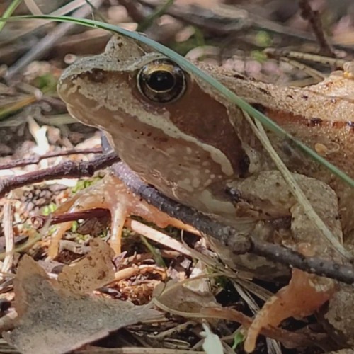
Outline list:
[[[321,181],[294,174],[317,215],[326,223],[338,240],[342,241],[341,222],[338,217],[336,193]],[[309,220],[302,205],[295,200],[279,171],[264,171],[241,182],[232,183],[239,197],[255,207],[260,217],[271,219],[291,215],[292,239],[285,246],[304,256],[319,256],[340,261],[319,229]],[[263,211],[263,212],[262,212]],[[271,277],[271,275],[270,275]],[[283,287],[265,303],[249,328],[245,350],[251,352],[259,331],[264,326],[278,326],[290,316],[303,317],[319,309],[333,295],[335,282],[301,270],[292,271],[290,284]]]

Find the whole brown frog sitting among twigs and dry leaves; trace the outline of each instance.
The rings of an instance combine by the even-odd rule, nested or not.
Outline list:
[[[350,121],[354,81],[343,72],[299,89],[198,65],[354,177],[354,122]],[[234,226],[241,234],[341,261],[309,222],[242,111],[164,55],[117,36],[102,55],[79,59],[65,70],[58,91],[74,118],[107,132],[122,161],[164,195]],[[268,136],[316,213],[339,241],[346,240],[354,227],[353,190],[283,137],[271,132]],[[100,192],[95,187],[96,198],[86,195],[70,207],[109,207],[113,234],[119,233],[125,217],[135,210],[127,210],[122,200],[112,201],[116,195],[112,177],[103,184]],[[290,222],[280,229],[281,219]],[[255,278],[275,279],[288,271],[265,258],[234,256],[217,239],[208,241],[229,267],[251,271]],[[117,242],[115,238],[113,246],[119,251]],[[293,270],[290,285],[254,319],[246,350],[253,350],[263,326],[311,314],[335,291],[332,280]]]

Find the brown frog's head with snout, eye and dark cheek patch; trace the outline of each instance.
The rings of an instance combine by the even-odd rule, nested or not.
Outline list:
[[[77,60],[58,91],[75,118],[108,132],[133,170],[155,176],[149,183],[164,179],[191,192],[247,172],[222,98],[135,40],[115,35],[102,55]]]

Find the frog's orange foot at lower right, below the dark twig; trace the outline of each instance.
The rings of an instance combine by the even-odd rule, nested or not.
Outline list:
[[[244,350],[251,353],[256,346],[256,339],[261,329],[266,326],[278,326],[288,317],[309,316],[319,309],[334,292],[334,282],[302,270],[292,270],[289,285],[282,287],[273,297],[265,302],[256,314],[249,330]]]

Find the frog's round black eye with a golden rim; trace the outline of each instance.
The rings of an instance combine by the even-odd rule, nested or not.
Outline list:
[[[150,101],[167,103],[185,92],[185,74],[169,59],[154,60],[140,69],[137,86]]]

